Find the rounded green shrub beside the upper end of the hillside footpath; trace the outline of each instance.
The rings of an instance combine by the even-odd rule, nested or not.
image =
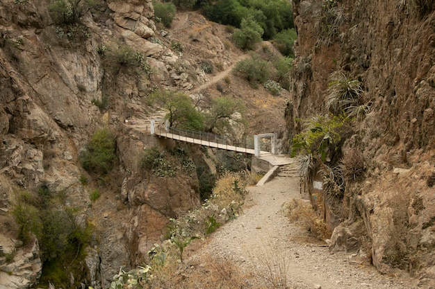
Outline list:
[[[262,60],[258,54],[252,54],[251,58],[240,60],[233,69],[237,76],[245,78],[253,88],[258,87],[258,83],[268,80],[270,75],[269,64]]]

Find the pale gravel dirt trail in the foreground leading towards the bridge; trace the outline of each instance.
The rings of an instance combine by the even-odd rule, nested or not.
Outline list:
[[[290,288],[416,288],[409,279],[383,276],[363,265],[356,254],[331,254],[322,243],[304,243],[306,232],[290,224],[282,210],[284,203],[301,197],[297,177],[275,177],[264,186],[249,187],[244,213],[215,232],[196,258],[229,257],[245,272],[259,275],[265,263],[279,265],[284,258]]]

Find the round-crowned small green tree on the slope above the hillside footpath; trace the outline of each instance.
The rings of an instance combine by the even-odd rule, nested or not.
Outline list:
[[[234,43],[244,50],[254,50],[258,42],[261,42],[261,36],[263,36],[264,30],[256,23],[252,15],[248,15],[242,19],[240,29],[237,29],[233,33]]]

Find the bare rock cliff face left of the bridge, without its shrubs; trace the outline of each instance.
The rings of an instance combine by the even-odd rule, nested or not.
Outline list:
[[[145,99],[154,87],[188,85],[174,69],[179,56],[165,46],[169,41],[154,37],[151,0],[101,1],[96,8],[83,8],[76,26],[56,22],[50,3],[0,3],[0,240],[8,240],[6,249],[1,244],[0,273],[9,276],[0,284],[28,288],[40,277],[38,242],[22,247],[12,234],[17,229],[10,210],[18,191],[35,191],[44,183],[65,196],[63,205],[81,211],[79,224],[88,220],[95,226],[85,259],[88,277],[79,282],[106,287],[120,267],[142,259],[168,218],[199,204],[196,175],[180,172],[173,182],[145,177],[140,156],[144,148],[161,143],[131,125],[141,119],[141,128],[146,127],[152,110]],[[124,67],[109,71],[102,53],[124,44],[145,57],[152,73]],[[106,100],[102,110],[92,104]],[[103,127],[117,134],[119,161],[106,177],[88,175],[79,155]],[[90,183],[80,182],[81,176]],[[96,188],[101,198],[91,203]],[[30,272],[24,276],[15,268]],[[26,280],[8,281],[21,277]]]

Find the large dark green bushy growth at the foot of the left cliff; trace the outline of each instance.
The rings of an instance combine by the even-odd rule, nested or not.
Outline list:
[[[38,238],[43,262],[40,283],[51,281],[56,287],[67,288],[69,274],[83,267],[92,227],[79,225],[75,210],[65,206],[60,194],[50,191],[46,184],[34,192],[19,192],[12,213],[24,245],[33,235]]]

